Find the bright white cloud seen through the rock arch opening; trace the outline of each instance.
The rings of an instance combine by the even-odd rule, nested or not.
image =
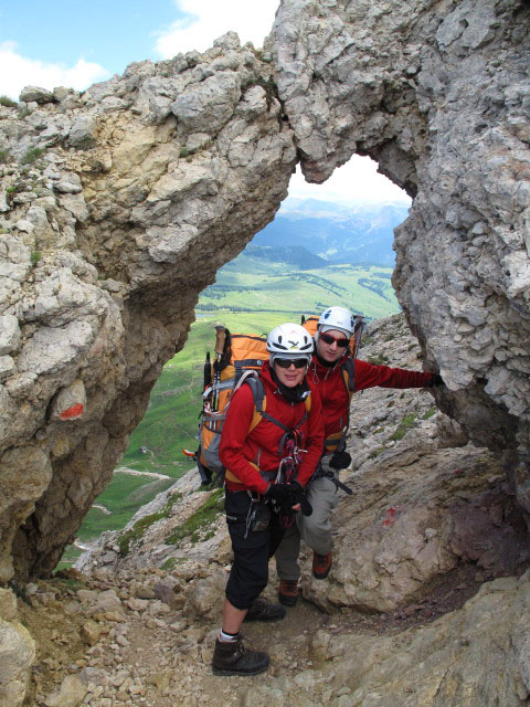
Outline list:
[[[297,169],[289,184],[289,197],[317,199],[344,205],[352,203],[400,203],[410,205],[411,199],[396,184],[378,173],[378,165],[369,157],[353,157],[335,170],[324,184],[309,184]]]

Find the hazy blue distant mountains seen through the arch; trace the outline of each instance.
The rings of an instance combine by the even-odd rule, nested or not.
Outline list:
[[[404,204],[349,208],[310,199],[287,199],[275,220],[254,236],[247,250],[255,246],[282,249],[287,257],[289,250],[296,247],[318,256],[320,264],[369,262],[393,267],[393,230],[407,214],[409,208]],[[272,253],[266,251],[253,251],[252,255],[265,258],[268,255],[268,260],[273,260]],[[294,254],[292,261],[286,257],[284,262],[295,264]],[[318,267],[318,264],[306,267]]]

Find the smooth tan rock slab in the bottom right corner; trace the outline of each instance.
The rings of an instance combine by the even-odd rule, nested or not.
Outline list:
[[[350,688],[347,701],[332,704],[523,705],[529,588],[528,572],[488,582],[462,610],[395,639],[318,632],[314,652],[326,661],[324,674]]]

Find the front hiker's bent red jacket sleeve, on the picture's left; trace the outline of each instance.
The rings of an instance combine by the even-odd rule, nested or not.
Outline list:
[[[242,386],[233,395],[226,420],[223,425],[219,458],[242,484],[251,490],[264,494],[267,482],[259,476],[256,468],[245,458],[243,446],[248,434],[254,414],[254,398],[250,386]]]

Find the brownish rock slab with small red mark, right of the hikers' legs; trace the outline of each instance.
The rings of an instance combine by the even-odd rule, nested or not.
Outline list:
[[[486,450],[437,450],[411,433],[348,481],[328,582],[307,563],[305,597],[329,612],[393,611],[463,562],[488,577],[516,572],[530,559],[529,538],[501,477]]]

